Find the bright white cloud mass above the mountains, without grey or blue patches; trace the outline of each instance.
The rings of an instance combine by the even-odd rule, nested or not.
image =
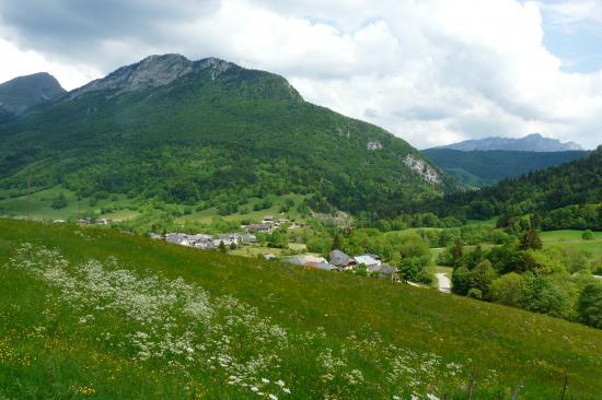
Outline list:
[[[563,61],[543,45],[542,8],[574,15],[570,21],[583,17],[582,10],[598,10],[597,1],[577,2],[581,7],[518,0],[212,1],[202,12],[158,15],[140,32],[100,32],[94,51],[77,51],[76,70],[108,72],[151,52],[218,56],[283,74],[306,99],[383,126],[419,148],[534,131],[593,148],[602,141],[602,71],[563,72]],[[35,46],[18,24],[11,28],[15,42]],[[67,69],[69,46],[60,45],[36,51]]]

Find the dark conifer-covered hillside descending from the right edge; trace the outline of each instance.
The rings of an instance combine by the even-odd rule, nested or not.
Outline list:
[[[567,219],[577,220],[582,226],[556,226],[555,228],[602,228],[602,146],[587,157],[556,167],[535,170],[519,178],[505,179],[493,187],[477,191],[458,192],[425,207],[441,214],[468,219],[488,219],[501,213],[522,215],[574,205]],[[593,204],[598,208],[584,208]],[[580,214],[580,213],[587,213]],[[583,220],[582,223],[580,219]],[[586,220],[591,220],[586,224]]]

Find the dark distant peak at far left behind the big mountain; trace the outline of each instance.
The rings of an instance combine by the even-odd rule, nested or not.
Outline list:
[[[46,72],[19,77],[0,84],[0,121],[65,93],[58,81]]]

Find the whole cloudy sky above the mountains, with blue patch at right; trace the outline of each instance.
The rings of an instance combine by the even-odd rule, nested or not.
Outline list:
[[[279,73],[419,149],[602,143],[602,0],[0,2],[0,82],[47,71],[72,90],[166,52]]]

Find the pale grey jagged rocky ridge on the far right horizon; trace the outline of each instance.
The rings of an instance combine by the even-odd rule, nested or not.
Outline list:
[[[496,137],[465,140],[463,142],[441,145],[435,149],[452,149],[464,152],[475,150],[509,150],[524,152],[562,152],[571,150],[583,150],[579,144],[575,142],[563,143],[556,139],[544,138],[540,133],[532,133],[520,139]]]

